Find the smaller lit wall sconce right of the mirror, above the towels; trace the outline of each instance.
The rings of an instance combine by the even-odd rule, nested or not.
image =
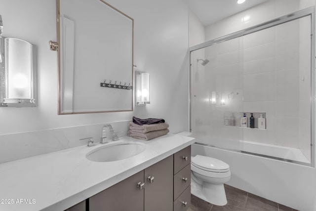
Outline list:
[[[136,105],[150,104],[149,100],[149,73],[135,71]]]

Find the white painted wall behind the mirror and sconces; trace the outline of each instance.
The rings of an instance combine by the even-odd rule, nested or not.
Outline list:
[[[163,118],[172,133],[187,130],[187,5],[182,0],[107,2],[134,18],[134,64],[151,74],[151,104],[134,107],[134,112],[58,116],[57,53],[48,45],[57,40],[56,0],[0,0],[3,36],[29,41],[38,49],[38,106],[0,107],[0,135],[131,120],[133,115]],[[2,141],[0,136],[0,145]]]

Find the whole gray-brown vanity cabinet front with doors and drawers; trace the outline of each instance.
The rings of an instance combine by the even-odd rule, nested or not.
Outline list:
[[[187,211],[191,204],[190,163],[191,146],[66,211],[85,211],[85,207],[87,211]]]

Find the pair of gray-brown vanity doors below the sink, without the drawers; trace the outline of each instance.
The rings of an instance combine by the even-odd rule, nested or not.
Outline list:
[[[172,211],[173,155],[90,197],[89,211]]]

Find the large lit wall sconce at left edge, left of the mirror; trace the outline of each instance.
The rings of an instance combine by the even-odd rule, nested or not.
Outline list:
[[[35,45],[4,37],[0,42],[1,106],[36,106]]]

